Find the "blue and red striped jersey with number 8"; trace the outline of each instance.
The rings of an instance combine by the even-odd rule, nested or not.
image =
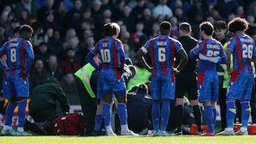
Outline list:
[[[29,41],[18,38],[5,42],[0,49],[0,57],[3,55],[7,56],[7,66],[1,60],[1,68],[9,69],[8,75],[18,76],[22,71],[29,73],[34,60],[33,47]]]

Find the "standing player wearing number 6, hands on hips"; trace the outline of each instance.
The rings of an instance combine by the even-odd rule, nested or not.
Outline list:
[[[170,100],[175,98],[175,77],[174,74],[180,72],[188,61],[188,55],[182,48],[179,41],[170,38],[170,22],[160,23],[161,35],[150,39],[144,47],[137,53],[139,63],[146,70],[151,72],[151,97],[152,97],[152,122],[154,127],[153,136],[169,136],[166,127],[170,117]],[[150,53],[152,66],[150,67],[144,59],[144,55]],[[174,58],[176,53],[181,60],[174,68]],[[160,112],[160,105],[162,110]],[[161,128],[159,130],[160,114],[162,117]]]

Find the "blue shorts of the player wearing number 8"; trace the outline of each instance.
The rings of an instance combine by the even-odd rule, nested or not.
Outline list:
[[[29,97],[29,79],[8,76],[3,80],[3,97]]]

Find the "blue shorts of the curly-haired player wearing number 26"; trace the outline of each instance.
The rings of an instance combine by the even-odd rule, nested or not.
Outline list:
[[[238,100],[250,100],[254,75],[249,72],[234,71],[227,86],[227,97]]]

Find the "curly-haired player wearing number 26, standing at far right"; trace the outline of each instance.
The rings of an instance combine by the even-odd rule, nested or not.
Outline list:
[[[227,24],[227,29],[234,37],[227,42],[227,72],[231,75],[227,86],[227,128],[220,135],[234,135],[235,100],[240,100],[242,108],[242,127],[235,135],[248,135],[247,124],[251,113],[249,101],[253,90],[253,66],[256,49],[253,38],[246,35],[249,23],[242,18],[235,18]],[[230,55],[233,54],[234,69],[230,67]]]

